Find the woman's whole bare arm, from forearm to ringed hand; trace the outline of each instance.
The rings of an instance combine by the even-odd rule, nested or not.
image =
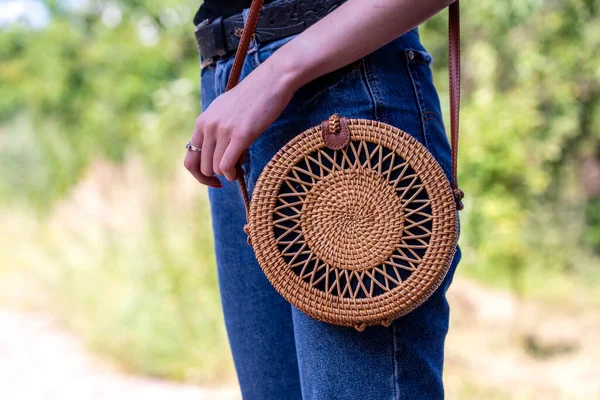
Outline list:
[[[244,150],[302,85],[348,65],[426,21],[455,0],[348,0],[283,45],[196,120],[184,165],[201,183],[236,178]]]

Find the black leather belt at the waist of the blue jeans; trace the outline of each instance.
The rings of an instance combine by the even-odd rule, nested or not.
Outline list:
[[[278,0],[265,5],[256,26],[257,43],[295,35],[329,14],[346,0]],[[202,67],[235,53],[244,29],[243,15],[205,20],[196,28]]]

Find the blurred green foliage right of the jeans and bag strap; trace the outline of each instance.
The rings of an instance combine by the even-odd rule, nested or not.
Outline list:
[[[462,11],[463,268],[525,292],[547,291],[553,274],[594,285],[600,193],[582,191],[580,166],[600,160],[600,2]],[[444,52],[444,18],[422,29],[434,54]],[[445,83],[447,64],[435,68]]]

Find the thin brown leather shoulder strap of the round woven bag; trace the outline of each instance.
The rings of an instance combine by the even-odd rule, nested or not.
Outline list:
[[[244,32],[240,39],[240,45],[235,53],[235,59],[233,61],[229,80],[227,81],[226,90],[235,87],[239,82],[242,67],[244,66],[244,60],[248,53],[250,39],[254,35],[254,30],[256,29],[256,23],[258,22],[262,6],[263,0],[252,0],[248,19],[244,26]],[[451,186],[456,201],[456,208],[462,210],[464,193],[458,188],[458,177],[456,172],[458,158],[458,120],[460,115],[460,8],[458,0],[450,4],[448,10],[448,72],[450,80],[450,142],[452,144]],[[237,169],[237,181],[240,186],[240,191],[242,192],[244,205],[246,206],[246,217],[248,217],[250,211],[250,197],[248,196],[248,189],[246,187],[246,181],[244,180],[244,173],[241,166],[238,165]]]

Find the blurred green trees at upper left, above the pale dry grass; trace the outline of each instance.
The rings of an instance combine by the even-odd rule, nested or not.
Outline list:
[[[0,121],[12,124],[0,196],[42,210],[94,158],[135,152],[163,171],[199,112],[197,1],[64,3],[45,2],[47,26],[0,36]]]

